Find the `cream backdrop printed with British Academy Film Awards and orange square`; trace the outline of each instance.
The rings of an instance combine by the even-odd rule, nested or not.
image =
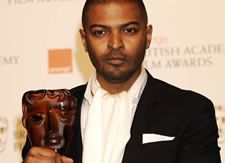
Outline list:
[[[0,1],[0,162],[21,161],[25,91],[72,88],[93,72],[78,32],[83,4],[84,0]],[[154,77],[213,101],[225,162],[225,1],[145,4],[154,30],[144,66]]]

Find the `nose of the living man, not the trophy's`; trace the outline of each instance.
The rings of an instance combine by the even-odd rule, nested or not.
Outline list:
[[[110,50],[121,50],[124,48],[123,38],[119,32],[111,32],[108,41],[108,48]]]

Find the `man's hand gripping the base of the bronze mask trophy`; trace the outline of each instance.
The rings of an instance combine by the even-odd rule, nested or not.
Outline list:
[[[24,160],[25,163],[73,163],[71,158],[60,156],[53,150],[32,147]]]

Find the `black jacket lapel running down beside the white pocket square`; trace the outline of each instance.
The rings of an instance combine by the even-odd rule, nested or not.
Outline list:
[[[148,81],[141,95],[138,103],[134,120],[131,126],[131,138],[128,141],[125,153],[123,156],[123,163],[137,163],[141,154],[142,148],[142,134],[148,127],[149,114],[154,107],[154,101],[159,94],[155,85],[154,78],[148,73]]]

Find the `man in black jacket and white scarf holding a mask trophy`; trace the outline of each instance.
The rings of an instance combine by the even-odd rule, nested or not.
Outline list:
[[[152,26],[141,0],[87,0],[80,30],[96,73],[78,98],[70,152],[23,149],[25,162],[220,163],[213,104],[142,68]]]

